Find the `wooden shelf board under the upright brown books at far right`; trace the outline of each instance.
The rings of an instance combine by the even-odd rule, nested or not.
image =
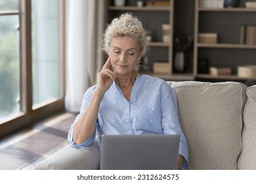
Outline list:
[[[244,49],[256,49],[256,45],[251,44],[226,44],[226,43],[217,43],[217,44],[206,44],[206,43],[197,43],[199,48],[244,48]]]

